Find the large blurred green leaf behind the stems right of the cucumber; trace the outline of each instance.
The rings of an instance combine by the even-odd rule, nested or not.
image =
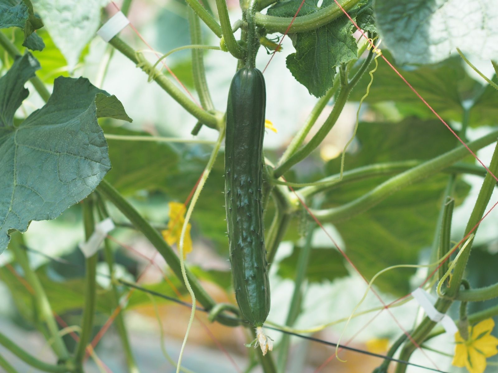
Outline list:
[[[357,140],[360,150],[346,155],[345,169],[377,162],[408,159],[430,159],[457,142],[438,121],[406,120],[396,124],[361,123]],[[329,162],[335,173],[340,160]],[[376,272],[395,264],[418,263],[421,249],[432,242],[447,176],[439,175],[410,185],[393,193],[372,209],[335,224],[347,254],[358,269],[371,278]],[[337,188],[327,193],[326,206],[338,206],[372,190],[385,177],[374,178]],[[457,183],[457,202],[461,202],[469,187]],[[382,274],[376,285],[385,292],[406,294],[410,269],[396,269]]]

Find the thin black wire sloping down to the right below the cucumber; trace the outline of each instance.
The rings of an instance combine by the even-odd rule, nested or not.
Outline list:
[[[50,255],[47,255],[44,252],[41,252],[39,250],[28,248],[27,246],[23,246],[23,247],[27,251],[31,251],[31,252],[34,252],[36,254],[42,255],[42,256],[44,256],[47,259],[52,260],[52,261],[57,261],[57,262],[68,264],[68,265],[71,265],[71,266],[74,266],[74,267],[81,267],[81,268],[84,267],[84,265],[72,263],[72,262],[70,262],[70,261],[68,261],[66,259],[54,258],[54,257],[52,257]],[[103,276],[103,277],[112,279],[112,277],[110,275],[105,274],[105,273],[99,273],[99,272],[97,272],[96,274],[99,275],[99,276]],[[123,284],[124,286],[130,287],[130,288],[135,288],[136,290],[143,291],[145,293],[149,293],[149,294],[154,295],[156,297],[163,298],[163,299],[169,300],[171,302],[174,302],[174,303],[177,303],[177,304],[181,304],[182,306],[192,308],[192,304],[191,303],[184,302],[183,300],[180,300],[178,298],[170,297],[168,295],[159,293],[159,292],[154,291],[154,290],[149,290],[147,288],[141,287],[140,285],[137,285],[137,284],[134,284],[132,282],[128,282],[128,281],[125,281],[125,280],[122,280],[122,279],[117,279],[117,281],[119,283]],[[198,307],[196,307],[196,309],[199,310],[199,311],[202,311],[202,312],[209,313],[209,311],[207,311],[203,307],[199,307],[198,306]],[[224,317],[232,319],[232,320],[240,321],[241,323],[246,323],[245,320],[242,320],[242,319],[239,319],[239,318],[236,318],[236,317],[232,317],[232,316],[224,316]],[[410,362],[407,362],[407,361],[404,361],[404,360],[399,360],[399,359],[396,359],[396,358],[392,358],[390,356],[375,354],[373,352],[366,351],[366,350],[361,350],[361,349],[356,349],[354,347],[343,346],[343,345],[340,345],[340,344],[337,344],[337,343],[334,343],[334,342],[329,342],[329,341],[325,341],[323,339],[319,339],[319,338],[315,338],[315,337],[310,337],[310,336],[306,336],[306,335],[299,334],[299,333],[290,332],[288,330],[282,330],[282,329],[275,328],[275,327],[268,326],[268,325],[265,325],[264,327],[266,329],[271,329],[271,330],[274,330],[274,331],[277,331],[277,332],[280,332],[280,333],[284,333],[284,334],[288,334],[288,335],[291,335],[291,336],[295,336],[295,337],[299,337],[299,338],[302,338],[302,339],[306,339],[308,341],[313,341],[313,342],[321,343],[322,345],[326,345],[326,346],[338,347],[338,348],[341,348],[341,349],[344,349],[344,350],[349,350],[349,351],[357,352],[357,353],[360,353],[360,354],[373,356],[375,358],[379,358],[379,359],[383,359],[383,360],[389,360],[391,362],[396,362],[396,363],[401,363],[401,364],[409,365],[409,366],[412,366],[412,367],[422,368],[422,369],[426,369],[426,370],[432,371],[432,372],[449,373],[449,372],[441,371],[439,369],[425,367],[423,365],[418,365],[418,364],[410,363]]]

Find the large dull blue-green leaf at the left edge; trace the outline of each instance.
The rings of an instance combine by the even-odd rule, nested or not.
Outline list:
[[[38,68],[31,54],[0,79],[0,252],[11,229],[59,216],[88,196],[111,168],[88,79],[58,78],[47,104],[18,126],[13,116]]]

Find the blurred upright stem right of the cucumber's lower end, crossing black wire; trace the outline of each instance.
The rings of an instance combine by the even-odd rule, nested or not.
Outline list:
[[[313,239],[313,229],[314,226],[309,227],[308,234],[306,235],[306,240],[304,246],[299,251],[299,257],[297,259],[296,277],[294,280],[294,292],[292,293],[292,298],[290,301],[289,312],[287,313],[287,319],[285,320],[285,326],[292,327],[296,322],[299,312],[301,311],[301,303],[303,297],[303,282],[306,277],[306,271],[308,269],[308,262],[311,254],[311,241]],[[294,248],[296,249],[296,248]],[[277,370],[279,373],[285,373],[287,370],[287,357],[289,354],[290,345],[290,335],[284,334],[280,345],[278,346],[279,354],[277,359]]]

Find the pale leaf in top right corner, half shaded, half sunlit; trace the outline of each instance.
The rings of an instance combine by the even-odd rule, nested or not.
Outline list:
[[[497,59],[498,7],[493,0],[376,0],[383,43],[400,64],[442,61],[458,47]]]

